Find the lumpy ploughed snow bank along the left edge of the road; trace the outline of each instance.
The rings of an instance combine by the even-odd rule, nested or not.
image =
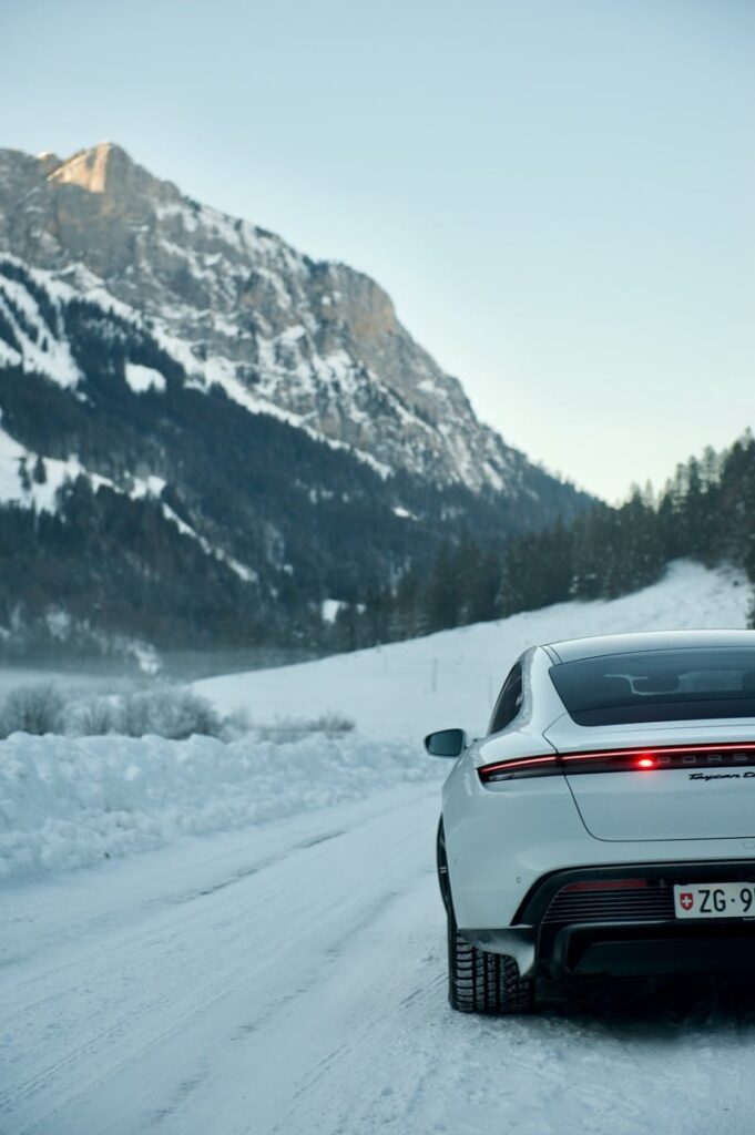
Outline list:
[[[437,777],[439,764],[417,746],[354,734],[224,745],[14,733],[0,742],[0,878],[359,799]]]

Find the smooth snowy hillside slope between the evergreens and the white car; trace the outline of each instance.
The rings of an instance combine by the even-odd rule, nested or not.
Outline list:
[[[536,642],[691,628],[745,628],[749,587],[743,573],[672,564],[660,583],[620,599],[560,603],[492,623],[319,662],[195,683],[219,708],[252,721],[351,717],[376,739],[419,743],[433,729],[484,732],[493,703],[518,655]]]

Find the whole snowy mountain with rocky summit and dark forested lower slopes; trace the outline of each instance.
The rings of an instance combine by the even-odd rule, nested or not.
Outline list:
[[[587,503],[476,419],[371,279],[110,143],[0,150],[0,502],[51,518],[5,516],[0,637],[32,579],[48,624],[94,590],[110,630],[275,637],[464,528]]]

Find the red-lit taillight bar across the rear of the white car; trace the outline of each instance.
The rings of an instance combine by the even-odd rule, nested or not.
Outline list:
[[[592,753],[554,753],[548,756],[513,757],[483,765],[484,784],[528,776],[567,773],[653,772],[664,768],[755,767],[755,741],[724,745],[666,745],[656,748],[604,749]],[[754,774],[755,775],[755,774]]]

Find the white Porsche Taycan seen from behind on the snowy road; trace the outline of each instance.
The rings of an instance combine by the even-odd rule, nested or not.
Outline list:
[[[437,861],[451,1004],[538,975],[755,973],[755,631],[553,642],[455,758]]]

